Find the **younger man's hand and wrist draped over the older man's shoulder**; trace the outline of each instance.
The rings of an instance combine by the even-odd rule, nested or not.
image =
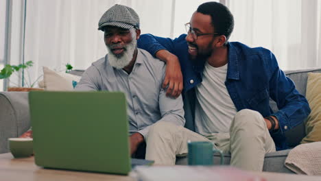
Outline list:
[[[166,95],[178,97],[183,89],[182,71],[178,57],[164,49],[157,51],[156,57],[167,64],[163,82],[163,88],[167,87]]]

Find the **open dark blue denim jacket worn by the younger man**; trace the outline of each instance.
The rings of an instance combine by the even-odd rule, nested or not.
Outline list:
[[[138,46],[152,55],[167,49],[178,56],[184,77],[183,99],[185,127],[193,130],[195,112],[195,86],[202,82],[205,60],[190,60],[186,34],[171,40],[143,34]],[[250,48],[242,43],[228,43],[228,72],[226,88],[237,110],[256,110],[263,117],[278,119],[278,131],[270,132],[276,149],[287,149],[284,132],[302,123],[311,112],[307,99],[298,93],[294,82],[279,69],[274,54],[262,47]],[[278,111],[270,108],[269,99],[276,101]],[[250,131],[250,130],[249,130]]]

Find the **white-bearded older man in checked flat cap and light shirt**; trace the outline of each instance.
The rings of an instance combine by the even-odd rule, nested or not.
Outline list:
[[[75,90],[126,93],[130,151],[132,156],[143,158],[136,150],[147,140],[150,125],[160,121],[179,126],[185,124],[182,97],[171,99],[166,96],[162,88],[165,64],[147,51],[137,49],[136,40],[141,30],[139,16],[132,8],[112,6],[99,20],[98,29],[104,32],[109,53],[93,62]]]

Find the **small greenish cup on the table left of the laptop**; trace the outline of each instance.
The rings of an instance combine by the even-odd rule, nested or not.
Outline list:
[[[14,158],[24,158],[32,156],[32,138],[9,138],[9,148]]]

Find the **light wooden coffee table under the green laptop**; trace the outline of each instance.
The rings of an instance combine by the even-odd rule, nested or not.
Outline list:
[[[254,175],[261,176],[267,181],[320,181],[321,177],[302,176],[285,173],[270,172],[251,172]],[[65,171],[56,169],[43,169],[34,164],[34,157],[13,158],[12,154],[0,154],[0,180],[119,180],[134,181],[130,176],[117,176],[104,173],[89,173],[82,171]]]

